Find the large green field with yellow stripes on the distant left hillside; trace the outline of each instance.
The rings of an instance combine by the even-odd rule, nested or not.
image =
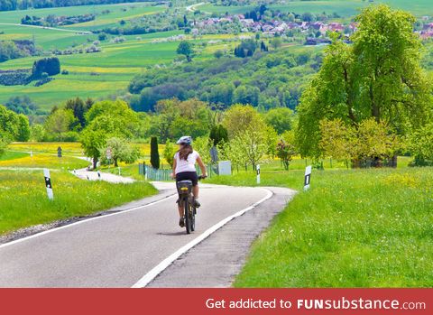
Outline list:
[[[27,95],[42,108],[51,108],[71,97],[106,97],[115,95],[127,88],[130,80],[145,71],[146,67],[170,63],[176,58],[179,42],[153,42],[156,38],[166,38],[179,34],[179,31],[160,32],[139,36],[125,36],[126,42],[101,44],[102,52],[59,56],[61,68],[69,70],[69,75],[57,75],[50,83],[41,87],[0,86],[0,104],[11,96]],[[96,37],[96,35],[92,35]],[[207,35],[203,40],[233,37],[231,35]],[[96,38],[95,38],[96,39]],[[194,42],[194,41],[193,41]],[[196,42],[199,42],[198,40]],[[230,43],[234,45],[234,43]],[[210,58],[212,51],[225,45],[208,46],[198,59]],[[227,47],[227,45],[226,45]],[[23,58],[2,63],[5,69],[31,68],[38,58]]]

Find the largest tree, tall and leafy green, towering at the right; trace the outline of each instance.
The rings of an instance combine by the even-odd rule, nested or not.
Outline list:
[[[340,118],[357,128],[373,117],[405,135],[432,116],[431,84],[419,66],[415,18],[375,5],[356,21],[353,45],[333,34],[322,67],[301,97],[297,144],[303,156],[322,154],[319,121],[324,118]]]

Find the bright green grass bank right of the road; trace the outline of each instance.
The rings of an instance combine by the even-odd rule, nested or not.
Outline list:
[[[209,182],[255,185],[255,174]],[[433,169],[262,171],[299,190],[253,244],[235,287],[431,287]]]

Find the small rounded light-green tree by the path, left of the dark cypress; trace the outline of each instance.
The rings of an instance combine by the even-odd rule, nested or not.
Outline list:
[[[108,162],[106,156],[106,151],[108,149],[111,150],[111,160],[113,160],[115,167],[118,167],[118,162],[132,164],[140,157],[140,148],[122,138],[109,138],[106,140],[105,147],[99,149],[101,161],[106,163]]]

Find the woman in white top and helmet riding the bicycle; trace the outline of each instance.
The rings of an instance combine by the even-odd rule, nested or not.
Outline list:
[[[198,175],[196,171],[196,162],[200,167],[203,178],[207,177],[206,167],[203,161],[201,161],[200,155],[197,151],[192,149],[192,138],[190,136],[182,136],[176,144],[179,144],[179,150],[174,154],[173,161],[173,172],[171,173],[172,178],[176,178],[176,181],[192,181],[192,194],[194,195],[196,208],[200,207],[198,202]],[[183,208],[180,204],[180,199],[177,201],[179,209],[179,225],[185,227],[185,221],[183,218]]]

